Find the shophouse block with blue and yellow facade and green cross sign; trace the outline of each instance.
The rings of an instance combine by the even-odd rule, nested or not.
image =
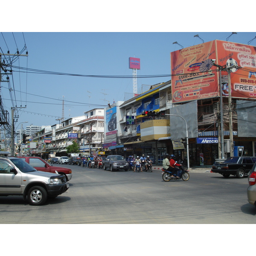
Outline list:
[[[170,136],[169,117],[143,116],[142,111],[169,113],[170,97],[168,81],[151,86],[150,90],[126,102],[116,102],[111,108],[106,108],[105,148],[126,158],[129,155],[149,155],[155,163],[161,163],[166,154],[166,142],[160,138]]]

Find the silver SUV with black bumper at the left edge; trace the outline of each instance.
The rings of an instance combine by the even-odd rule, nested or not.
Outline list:
[[[41,205],[68,188],[65,175],[40,172],[20,158],[0,156],[0,196],[23,195],[29,204]]]

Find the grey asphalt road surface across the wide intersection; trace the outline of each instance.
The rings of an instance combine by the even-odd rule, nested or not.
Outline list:
[[[67,192],[43,206],[30,206],[21,196],[0,197],[0,224],[256,223],[247,178],[190,173],[188,181],[164,182],[161,171],[71,169]]]

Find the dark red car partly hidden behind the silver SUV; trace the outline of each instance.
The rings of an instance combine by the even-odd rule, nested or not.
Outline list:
[[[31,166],[33,166],[36,170],[42,171],[42,172],[52,172],[58,174],[64,174],[68,180],[71,180],[72,178],[72,170],[68,168],[58,167],[58,166],[52,166],[46,161],[44,161],[41,157],[18,157],[23,159],[25,162],[29,163]]]

